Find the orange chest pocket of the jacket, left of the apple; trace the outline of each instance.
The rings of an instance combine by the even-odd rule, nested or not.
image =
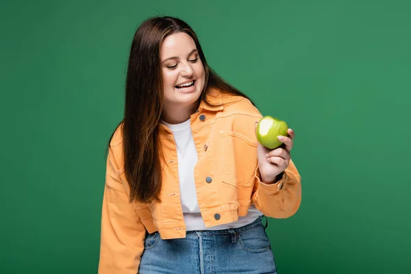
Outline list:
[[[240,132],[220,132],[221,176],[225,184],[251,186],[257,167],[258,142]]]

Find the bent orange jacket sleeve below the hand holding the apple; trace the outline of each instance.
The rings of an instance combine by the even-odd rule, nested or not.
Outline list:
[[[294,162],[290,160],[275,184],[264,184],[257,167],[251,199],[268,217],[284,219],[294,215],[301,204],[301,176]]]

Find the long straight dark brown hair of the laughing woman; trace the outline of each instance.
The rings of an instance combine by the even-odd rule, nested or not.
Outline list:
[[[195,41],[204,66],[206,81],[199,101],[203,100],[211,105],[206,100],[210,88],[251,101],[208,66],[199,40],[187,23],[170,16],[153,17],[144,21],[136,30],[132,41],[125,83],[125,111],[123,120],[118,125],[123,124],[124,172],[130,188],[130,202],[159,200],[162,170],[158,125],[164,104],[160,45],[164,38],[177,32],[184,32]],[[108,142],[109,147],[114,132]]]

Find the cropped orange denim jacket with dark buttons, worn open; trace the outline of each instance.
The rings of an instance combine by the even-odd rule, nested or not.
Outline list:
[[[266,216],[288,218],[301,203],[301,177],[290,160],[282,178],[264,184],[257,162],[255,122],[260,112],[244,97],[208,95],[191,115],[198,153],[195,185],[206,227],[231,223],[247,215],[251,203]],[[162,239],[184,238],[186,228],[179,195],[177,150],[172,132],[160,125],[163,184],[161,203],[129,203],[123,169],[121,127],[116,129],[107,160],[101,213],[100,274],[138,273],[146,230]]]

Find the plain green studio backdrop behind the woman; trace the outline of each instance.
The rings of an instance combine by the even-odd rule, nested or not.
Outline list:
[[[97,273],[105,145],[148,16],[295,129],[279,274],[409,273],[410,1],[1,1],[1,273]]]

